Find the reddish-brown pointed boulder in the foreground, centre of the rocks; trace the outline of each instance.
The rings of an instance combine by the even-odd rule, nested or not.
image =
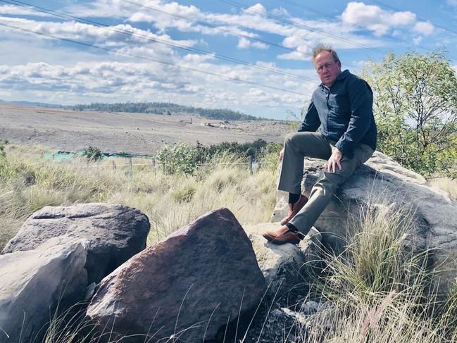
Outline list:
[[[87,316],[101,330],[112,329],[111,337],[149,332],[152,342],[173,335],[173,342],[202,342],[255,308],[265,288],[246,233],[227,208],[220,208],[101,280]]]

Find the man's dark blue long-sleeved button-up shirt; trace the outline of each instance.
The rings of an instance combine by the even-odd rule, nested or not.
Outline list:
[[[300,131],[320,131],[349,158],[357,144],[376,149],[373,92],[368,83],[344,70],[332,87],[320,84],[313,93]]]

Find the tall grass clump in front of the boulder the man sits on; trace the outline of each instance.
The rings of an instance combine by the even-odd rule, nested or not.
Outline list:
[[[325,252],[313,297],[327,309],[297,322],[297,342],[455,342],[457,289],[443,297],[414,251],[413,213],[367,206],[342,254]]]

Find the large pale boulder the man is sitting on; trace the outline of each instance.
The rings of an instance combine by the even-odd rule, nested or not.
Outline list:
[[[322,160],[305,158],[302,185],[305,194],[309,194],[320,177],[323,164]],[[278,196],[272,220],[287,213],[286,194],[278,192]],[[348,218],[359,218],[365,204],[411,210],[418,229],[411,242],[415,249],[434,249],[433,258],[437,263],[457,261],[457,202],[429,187],[422,176],[378,151],[340,187],[316,221],[315,227],[322,233],[326,247],[341,248]],[[442,276],[442,282],[453,280],[456,270],[451,269]]]

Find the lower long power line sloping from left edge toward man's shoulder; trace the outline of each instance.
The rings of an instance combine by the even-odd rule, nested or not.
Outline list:
[[[54,35],[46,34],[44,32],[37,32],[37,31],[33,31],[33,30],[28,30],[28,29],[25,29],[23,27],[18,27],[18,26],[15,26],[15,25],[8,25],[8,24],[5,24],[5,23],[0,23],[0,26],[9,27],[9,28],[12,28],[12,29],[15,29],[15,30],[20,30],[20,31],[23,31],[23,32],[29,32],[29,33],[32,33],[33,35],[39,35],[39,36],[43,36],[43,37],[49,37],[49,38],[52,38],[52,39],[58,39],[58,40],[61,40],[62,42],[79,44],[79,45],[87,46],[87,47],[94,48],[94,49],[100,49],[100,50],[104,50],[104,51],[109,51],[109,52],[113,52],[115,54],[119,54],[119,55],[123,55],[123,56],[140,58],[140,59],[144,59],[145,61],[152,61],[152,62],[156,62],[156,63],[162,63],[162,64],[165,64],[167,66],[173,66],[173,67],[178,67],[178,68],[182,68],[182,69],[192,70],[192,71],[195,71],[197,73],[204,73],[206,75],[220,77],[220,78],[225,79],[225,80],[231,80],[231,81],[246,83],[247,85],[254,85],[254,86],[258,86],[258,87],[265,87],[265,88],[275,89],[275,90],[278,90],[278,91],[281,91],[281,92],[290,93],[290,94],[296,94],[296,95],[301,95],[301,96],[304,95],[302,93],[294,92],[294,91],[291,91],[291,90],[288,90],[288,89],[283,89],[283,88],[280,88],[280,87],[275,87],[275,86],[270,86],[270,85],[263,85],[263,84],[258,83],[258,82],[242,80],[242,79],[239,79],[237,77],[230,77],[230,76],[227,76],[227,75],[211,73],[211,72],[206,71],[206,70],[200,70],[200,69],[196,69],[196,68],[192,68],[192,67],[188,67],[188,66],[182,66],[182,65],[177,64],[177,63],[161,61],[161,60],[158,60],[156,58],[150,58],[150,57],[146,57],[146,56],[139,56],[139,55],[136,55],[136,54],[130,54],[130,53],[127,53],[127,52],[116,51],[116,50],[113,50],[113,49],[108,49],[105,46],[98,46],[98,45],[94,45],[94,44],[78,42],[78,41],[75,41],[73,39],[57,37],[57,36],[54,36]]]

